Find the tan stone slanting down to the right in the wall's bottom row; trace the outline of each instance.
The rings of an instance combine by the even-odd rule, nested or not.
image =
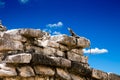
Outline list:
[[[63,69],[56,68],[57,76],[65,79],[65,80],[71,80],[70,74],[67,71],[64,71]]]

